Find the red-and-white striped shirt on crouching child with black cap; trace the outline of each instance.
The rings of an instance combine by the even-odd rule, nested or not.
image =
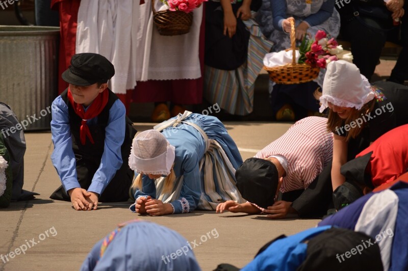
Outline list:
[[[267,158],[282,155],[288,161],[288,171],[281,192],[306,189],[322,172],[333,156],[333,133],[327,131],[327,119],[308,117],[297,121],[282,137],[255,155]]]

